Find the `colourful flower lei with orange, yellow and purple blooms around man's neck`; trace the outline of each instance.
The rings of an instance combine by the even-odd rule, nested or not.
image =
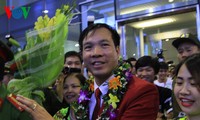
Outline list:
[[[108,93],[103,96],[104,108],[98,120],[116,119],[118,112],[116,108],[127,90],[129,80],[132,78],[130,64],[120,60],[119,66],[113,71],[113,74],[114,78],[108,82]],[[81,87],[79,99],[72,103],[72,107],[78,120],[89,120],[89,101],[94,93],[94,77],[90,77]]]

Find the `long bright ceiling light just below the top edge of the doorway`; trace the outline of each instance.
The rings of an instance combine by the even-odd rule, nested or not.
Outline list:
[[[147,27],[171,23],[174,21],[175,20],[172,18],[159,18],[159,19],[146,20],[146,21],[142,21],[142,22],[133,23],[132,26],[135,28],[147,28]]]

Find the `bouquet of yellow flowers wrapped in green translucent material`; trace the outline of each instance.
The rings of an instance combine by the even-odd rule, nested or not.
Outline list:
[[[63,5],[52,18],[38,17],[34,30],[26,34],[25,49],[15,55],[21,78],[13,79],[8,90],[39,103],[44,100],[40,89],[51,85],[63,69],[64,41],[73,8]]]

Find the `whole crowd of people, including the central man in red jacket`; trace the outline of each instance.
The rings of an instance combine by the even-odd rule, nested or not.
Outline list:
[[[43,90],[41,105],[6,89],[4,67],[14,55],[0,41],[0,119],[200,119],[200,42],[194,35],[183,34],[172,42],[180,61],[173,75],[158,57],[121,60],[120,36],[107,24],[88,26],[79,45],[80,52],[65,54],[63,70]]]

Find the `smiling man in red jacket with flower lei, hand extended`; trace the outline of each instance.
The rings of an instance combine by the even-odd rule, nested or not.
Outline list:
[[[73,106],[77,119],[156,119],[159,110],[158,90],[153,84],[132,76],[127,64],[118,61],[119,44],[117,31],[107,24],[93,24],[81,33],[80,51],[94,81],[87,80],[81,88],[78,102]],[[22,107],[35,120],[44,116],[52,119],[39,105],[31,109],[34,101],[22,97],[17,100],[26,105]]]

